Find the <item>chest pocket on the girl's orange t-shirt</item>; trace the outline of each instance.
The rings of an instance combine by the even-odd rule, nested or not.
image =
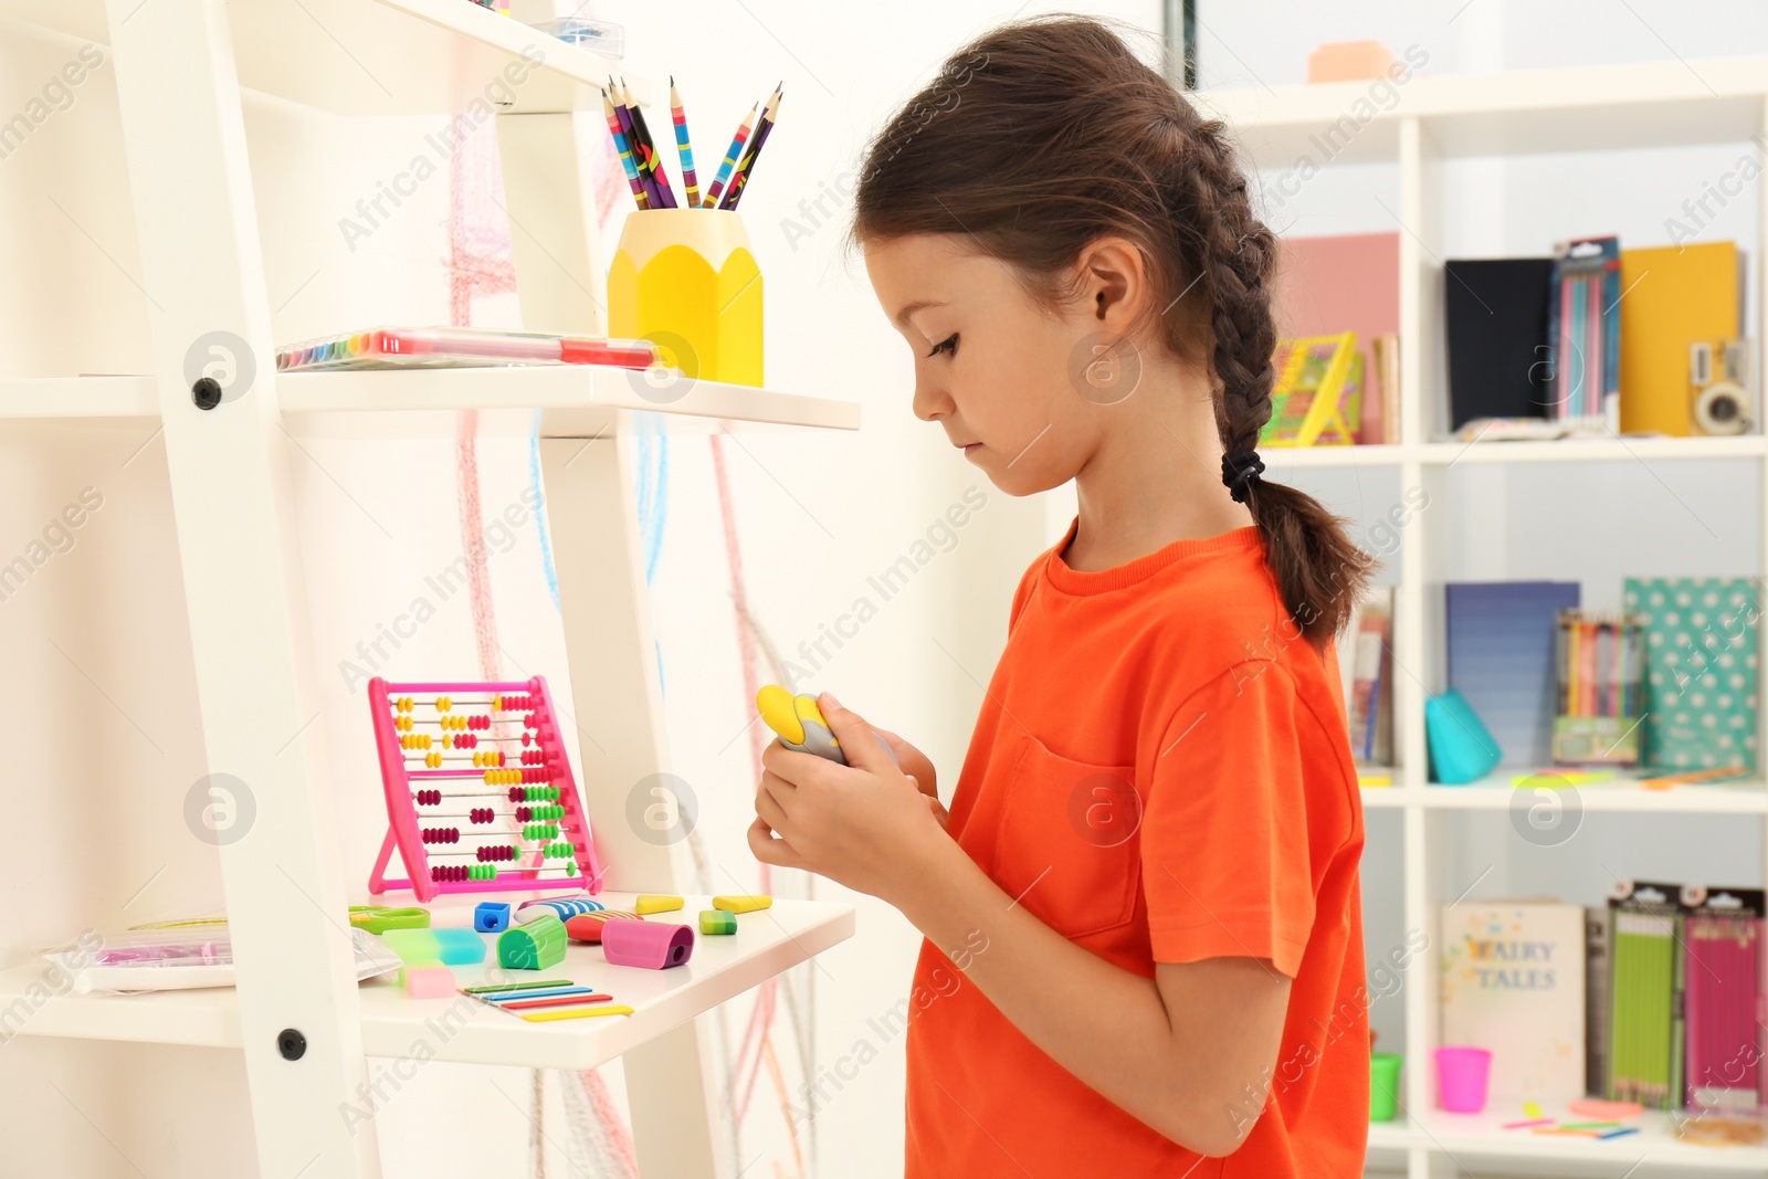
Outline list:
[[[995,884],[1068,939],[1130,921],[1142,877],[1133,781],[1130,765],[1075,762],[1020,730],[997,817]]]

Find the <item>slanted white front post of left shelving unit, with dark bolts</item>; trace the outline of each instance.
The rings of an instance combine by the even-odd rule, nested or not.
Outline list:
[[[313,725],[320,707],[308,603],[226,5],[110,0],[108,16],[210,771],[191,797],[228,817],[191,831],[221,857],[258,1172],[375,1179],[380,1158],[371,1098],[362,1096],[338,824]],[[193,398],[203,375],[221,398],[210,410]]]

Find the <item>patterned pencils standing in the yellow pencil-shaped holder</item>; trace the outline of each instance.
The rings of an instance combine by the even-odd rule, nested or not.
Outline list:
[[[750,108],[748,117],[737,126],[723,161],[720,161],[718,175],[713,177],[713,184],[702,198],[698,171],[693,166],[693,141],[688,134],[688,111],[681,104],[675,80],[668,80],[670,122],[675,127],[675,154],[681,161],[682,180],[682,200],[677,203],[644,110],[624,83],[615,85],[613,78],[608,78],[601,106],[608,118],[608,134],[613,136],[613,147],[621,154],[626,184],[633,189],[633,200],[640,209],[735,209],[750,177],[755,175],[755,161],[760,157],[767,136],[773,134],[781,95],[783,83],[774,87],[767,103]],[[755,122],[757,110],[760,111],[760,126]]]

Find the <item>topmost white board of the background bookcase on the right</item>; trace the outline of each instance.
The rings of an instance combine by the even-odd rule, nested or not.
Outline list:
[[[1200,90],[1193,101],[1227,118],[1255,161],[1278,170],[1301,156],[1315,166],[1397,163],[1404,118],[1421,120],[1432,145],[1452,157],[1743,143],[1761,129],[1768,58],[1414,72],[1388,85],[1383,92],[1372,92],[1372,81]]]

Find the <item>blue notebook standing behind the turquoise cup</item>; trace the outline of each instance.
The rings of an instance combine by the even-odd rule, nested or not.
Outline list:
[[[1577,582],[1453,582],[1448,686],[1460,689],[1510,765],[1552,764],[1554,624]]]

